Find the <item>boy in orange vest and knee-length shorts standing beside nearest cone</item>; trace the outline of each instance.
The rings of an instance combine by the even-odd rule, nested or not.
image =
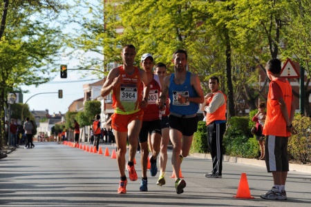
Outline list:
[[[288,137],[296,133],[292,126],[294,119],[294,99],[292,86],[280,77],[281,61],[271,59],[265,66],[267,77],[271,80],[267,95],[267,117],[263,126],[265,141],[265,164],[272,172],[274,186],[263,199],[287,199],[285,181],[288,176]]]

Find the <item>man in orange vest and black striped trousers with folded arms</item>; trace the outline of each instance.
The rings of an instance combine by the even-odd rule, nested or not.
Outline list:
[[[223,175],[223,135],[226,130],[227,96],[219,90],[218,77],[209,78],[209,92],[200,109],[206,111],[207,144],[211,152],[213,169],[205,177],[220,178]]]

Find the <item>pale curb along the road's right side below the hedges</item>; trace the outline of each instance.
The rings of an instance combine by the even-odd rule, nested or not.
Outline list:
[[[189,154],[191,157],[198,157],[202,159],[211,159],[211,154],[204,154],[204,153],[192,153]],[[265,161],[258,160],[258,159],[249,159],[249,158],[241,158],[241,157],[230,157],[227,155],[223,155],[223,161],[238,163],[238,164],[246,164],[249,166],[259,166],[265,168]],[[311,174],[311,166],[310,165],[303,165],[303,164],[291,164],[290,163],[290,171],[295,172],[305,172]]]

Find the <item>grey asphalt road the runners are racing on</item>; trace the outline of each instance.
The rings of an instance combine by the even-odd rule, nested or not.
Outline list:
[[[136,155],[138,181],[129,181],[127,193],[117,194],[120,175],[116,159],[86,152],[55,142],[35,143],[35,148],[18,148],[0,159],[0,206],[311,206],[311,174],[290,171],[286,190],[288,200],[260,198],[272,187],[272,175],[265,168],[223,163],[223,178],[209,179],[211,160],[187,157],[182,175],[187,187],[176,194],[167,166],[167,184],[157,186],[156,177],[148,178],[148,192],[140,192],[140,154]],[[126,154],[127,156],[128,154]],[[236,199],[241,173],[247,175],[248,189],[254,199]],[[128,172],[126,172],[128,175]],[[149,173],[148,173],[149,175]]]

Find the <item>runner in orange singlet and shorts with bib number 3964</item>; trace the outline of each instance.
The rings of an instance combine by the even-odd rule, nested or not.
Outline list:
[[[106,97],[113,92],[112,128],[117,144],[117,164],[120,171],[120,186],[117,193],[126,193],[125,175],[126,139],[129,137],[129,179],[138,179],[134,168],[134,159],[138,147],[138,135],[142,126],[141,108],[148,105],[149,83],[146,72],[133,65],[136,50],[133,45],[122,49],[123,65],[113,68],[102,86],[101,95]],[[142,84],[143,83],[143,84]]]

